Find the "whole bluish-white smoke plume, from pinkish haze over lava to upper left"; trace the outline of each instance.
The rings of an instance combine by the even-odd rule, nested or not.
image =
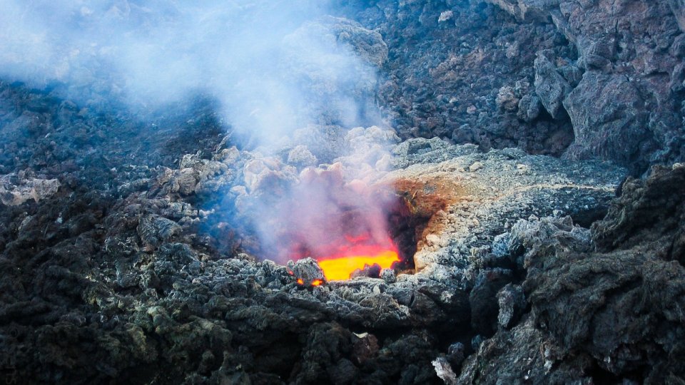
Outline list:
[[[218,101],[225,122],[265,149],[267,157],[316,125],[352,128],[380,121],[372,95],[387,46],[379,34],[328,16],[328,1],[0,4],[0,78],[38,88],[60,83],[64,97],[79,103],[111,98],[144,115],[189,96],[208,96]],[[326,138],[313,144],[311,135],[305,136],[311,153],[330,145]],[[338,155],[359,160],[368,158],[367,150]],[[373,162],[381,157],[374,155]],[[333,159],[320,155],[319,160]],[[270,168],[271,160],[259,162],[259,173],[283,176]],[[340,170],[324,174],[336,175],[335,182],[313,173],[298,184],[301,175],[290,170],[280,193],[249,189],[253,199],[245,218],[258,224],[261,242],[275,250],[270,257],[283,259],[293,245],[323,254],[322,247],[340,245],[349,236],[387,241],[387,202],[345,186],[363,163],[350,162],[351,178]],[[269,180],[262,174],[255,178]]]

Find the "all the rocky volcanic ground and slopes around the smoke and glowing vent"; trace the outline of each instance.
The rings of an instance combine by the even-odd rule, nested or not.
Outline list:
[[[337,4],[274,69],[317,118],[268,142],[215,92],[5,75],[0,381],[683,383],[681,3]],[[363,76],[298,56],[322,32]],[[389,194],[402,264],[315,286],[281,260],[311,178]]]

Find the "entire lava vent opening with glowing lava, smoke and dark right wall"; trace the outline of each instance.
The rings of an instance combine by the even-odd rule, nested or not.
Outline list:
[[[419,190],[407,181],[346,182],[335,167],[305,170],[265,212],[259,254],[284,265],[311,258],[325,281],[380,277],[384,269],[414,272],[417,244],[444,207]],[[417,197],[432,210],[417,205]]]

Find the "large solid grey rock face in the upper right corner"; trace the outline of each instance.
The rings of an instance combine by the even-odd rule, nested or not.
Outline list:
[[[545,4],[544,12],[574,43],[576,65],[586,71],[564,99],[575,134],[567,155],[611,159],[634,170],[644,170],[659,157],[663,159],[664,154],[658,150],[664,150],[671,161],[679,158],[679,152],[670,153],[669,148],[672,133],[681,126],[677,118],[681,106],[671,103],[679,92],[671,81],[677,77],[679,57],[667,48],[676,44],[680,33],[676,21],[681,22],[681,4],[555,3]],[[538,1],[497,4],[521,20],[527,7],[541,9]],[[545,97],[536,91],[545,103]]]

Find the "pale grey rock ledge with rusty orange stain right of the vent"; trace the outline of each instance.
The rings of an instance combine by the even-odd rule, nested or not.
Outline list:
[[[514,225],[510,218],[571,215],[589,225],[604,215],[602,207],[625,173],[517,149],[480,153],[475,145],[437,138],[407,140],[393,153],[400,154],[395,163],[402,168],[383,179],[413,196],[417,212],[430,213],[414,256],[418,270],[436,262],[467,265],[460,258],[507,232]]]

